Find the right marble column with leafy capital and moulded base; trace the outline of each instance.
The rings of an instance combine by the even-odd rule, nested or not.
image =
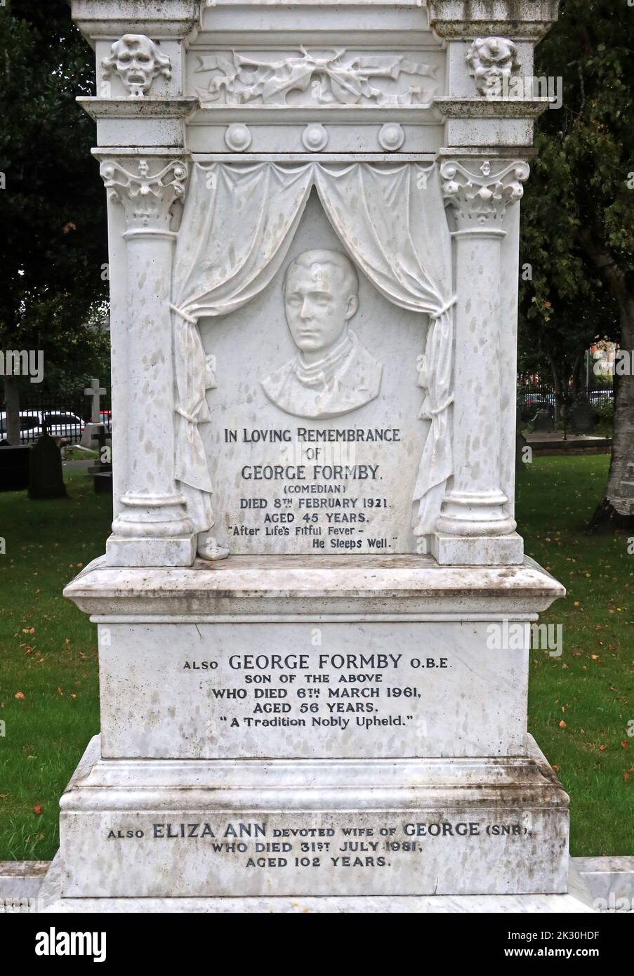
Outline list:
[[[466,168],[446,159],[440,172],[456,217],[454,477],[432,551],[444,564],[519,563],[522,540],[500,488],[499,457],[501,390],[515,386],[500,365],[500,298],[517,282],[500,280],[500,246],[506,209],[522,196],[529,167],[497,160],[493,172],[488,160]]]

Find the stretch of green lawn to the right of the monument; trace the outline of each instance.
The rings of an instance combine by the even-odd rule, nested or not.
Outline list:
[[[574,855],[634,854],[634,555],[583,531],[608,466],[536,458],[518,478],[526,550],[568,591],[540,618],[563,625],[563,654],[531,654],[529,729],[570,794]]]

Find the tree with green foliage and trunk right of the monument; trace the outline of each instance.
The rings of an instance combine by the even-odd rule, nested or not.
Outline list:
[[[564,384],[595,338],[634,348],[634,7],[562,0],[535,52],[535,74],[563,79],[563,107],[541,116],[523,203],[521,347]],[[634,378],[616,383],[607,498],[634,462]],[[620,499],[620,501],[619,501]]]

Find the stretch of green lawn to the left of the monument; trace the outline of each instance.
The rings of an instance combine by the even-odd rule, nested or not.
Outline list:
[[[112,499],[64,478],[67,499],[0,494],[0,860],[53,857],[59,796],[99,731],[97,628],[61,590],[103,552]]]

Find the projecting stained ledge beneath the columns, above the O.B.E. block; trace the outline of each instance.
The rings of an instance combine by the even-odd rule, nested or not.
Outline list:
[[[319,600],[322,614],[376,612],[376,595],[390,613],[508,613],[547,609],[564,588],[535,562],[517,566],[438,566],[429,556],[230,555],[219,571],[132,569],[90,563],[64,596],[85,613],[224,614],[307,613]],[[207,564],[209,565],[209,564]],[[380,574],[377,573],[380,569]],[[159,598],[157,598],[159,597]],[[462,617],[462,619],[464,619]]]

